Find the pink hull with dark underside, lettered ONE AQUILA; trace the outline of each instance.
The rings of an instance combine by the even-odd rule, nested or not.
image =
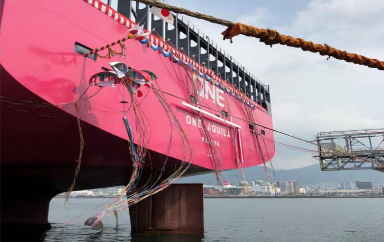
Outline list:
[[[51,194],[68,189],[79,149],[73,103],[38,108],[16,105],[15,102],[20,99],[50,104],[73,102],[88,88],[89,78],[100,72],[101,67],[109,67],[108,63],[112,61],[123,61],[135,69],[155,73],[161,90],[176,96],[165,95],[192,146],[192,166],[186,174],[215,169],[198,115],[183,104],[183,101],[189,103],[191,95],[188,92],[191,89],[190,75],[184,67],[137,40],[125,42],[126,60],[115,56],[110,60],[98,58],[95,62],[74,52],[75,42],[96,48],[127,35],[126,26],[85,1],[67,0],[65,4],[59,4],[51,0],[7,0],[2,4],[1,96],[8,98],[7,102],[1,102],[1,164],[5,168],[2,176],[34,180],[38,175],[39,184],[49,183]],[[120,50],[119,46],[114,48]],[[100,53],[105,54],[106,50]],[[185,83],[189,85],[187,89]],[[247,118],[242,110],[249,107],[225,92],[219,93],[209,82],[204,80],[204,83],[209,85],[207,88],[211,92],[216,92],[216,100],[211,98],[212,95],[201,97],[200,104],[210,108],[201,106],[201,109],[221,118],[220,110],[240,118],[223,118],[241,127],[243,161],[240,166],[257,166],[272,159],[275,153],[273,132],[265,129],[265,144],[262,141],[258,146],[248,122],[243,121]],[[96,90],[96,87],[90,87],[85,97]],[[105,87],[94,97],[79,102],[85,146],[83,167],[75,189],[121,185],[129,179],[132,163],[122,122],[122,90],[118,86]],[[180,136],[175,127],[170,127],[153,92],[145,87],[141,90],[144,97],[139,97],[140,108],[147,119],[152,162],[156,164],[164,160],[172,135],[168,154],[168,164],[172,167],[182,160]],[[223,105],[219,106],[215,101]],[[256,122],[272,128],[271,116],[258,108],[252,112]],[[126,116],[134,127],[133,113],[128,112]],[[220,152],[223,169],[238,168],[235,127],[215,117],[204,117]],[[137,137],[137,134],[134,132],[133,136]]]

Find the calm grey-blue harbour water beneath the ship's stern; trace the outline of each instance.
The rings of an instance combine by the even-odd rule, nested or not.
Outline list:
[[[384,198],[204,199],[204,235],[131,235],[128,211],[103,218],[103,232],[84,226],[105,198],[72,199],[70,206],[55,198],[50,203],[45,231],[13,232],[3,241],[41,242],[384,242]],[[65,223],[79,215],[84,216]],[[1,233],[4,231],[2,230]]]

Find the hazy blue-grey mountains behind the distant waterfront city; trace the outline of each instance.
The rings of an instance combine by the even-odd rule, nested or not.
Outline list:
[[[345,182],[355,180],[365,180],[372,182],[384,182],[384,172],[376,170],[338,170],[322,171],[318,164],[298,169],[279,169],[273,172],[267,169],[273,176],[273,181],[292,181],[296,180],[300,185]],[[264,167],[257,166],[244,169],[247,181],[264,180],[267,181]],[[229,170],[223,172],[223,179],[229,180],[231,184],[238,184],[242,180],[239,170]],[[215,173],[183,177],[178,183],[204,183],[205,185],[216,185]]]

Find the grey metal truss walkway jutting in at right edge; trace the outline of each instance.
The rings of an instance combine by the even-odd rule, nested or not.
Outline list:
[[[375,169],[384,172],[384,128],[316,135],[321,170]]]

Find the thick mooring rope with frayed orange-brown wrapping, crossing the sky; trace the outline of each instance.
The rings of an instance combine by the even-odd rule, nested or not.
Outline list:
[[[139,2],[152,5],[159,8],[165,8],[175,13],[185,14],[194,18],[203,19],[214,24],[222,24],[228,28],[222,32],[225,39],[232,39],[232,37],[243,34],[246,36],[252,36],[260,39],[265,45],[281,44],[295,48],[301,48],[304,51],[318,52],[320,55],[332,56],[338,60],[344,60],[346,62],[352,62],[359,65],[364,65],[371,68],[377,68],[384,70],[384,62],[378,59],[371,59],[363,55],[355,53],[349,53],[345,50],[339,50],[337,48],[330,47],[328,45],[314,44],[311,41],[306,41],[300,38],[294,38],[288,35],[280,34],[273,29],[257,28],[246,24],[234,23],[224,19],[219,19],[214,16],[194,12],[185,8],[176,7],[167,3],[159,2],[156,0],[137,0]]]

